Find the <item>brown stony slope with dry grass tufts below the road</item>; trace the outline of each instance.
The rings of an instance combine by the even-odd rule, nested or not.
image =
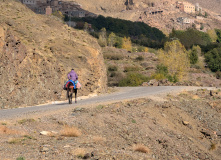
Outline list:
[[[220,98],[200,89],[5,121],[0,159],[220,160]]]

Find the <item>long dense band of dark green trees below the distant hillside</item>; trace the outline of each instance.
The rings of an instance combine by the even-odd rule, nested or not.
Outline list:
[[[115,33],[118,37],[130,37],[133,43],[139,45],[160,48],[166,41],[166,36],[157,28],[150,27],[143,22],[132,22],[128,20],[122,20],[112,17],[98,16],[72,18],[75,22],[87,22],[92,24],[92,28],[95,32],[100,31],[102,28],[106,28],[108,33]],[[142,39],[140,38],[142,36]]]

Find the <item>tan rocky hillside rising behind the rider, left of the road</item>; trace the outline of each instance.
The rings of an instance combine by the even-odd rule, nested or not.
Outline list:
[[[21,3],[0,0],[0,107],[65,99],[74,68],[79,96],[106,90],[106,69],[97,41],[54,16],[36,15]]]

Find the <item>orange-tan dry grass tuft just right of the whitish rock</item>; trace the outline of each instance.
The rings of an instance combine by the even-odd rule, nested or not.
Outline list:
[[[79,137],[81,136],[81,131],[75,127],[65,126],[61,131],[61,136],[65,137]]]

